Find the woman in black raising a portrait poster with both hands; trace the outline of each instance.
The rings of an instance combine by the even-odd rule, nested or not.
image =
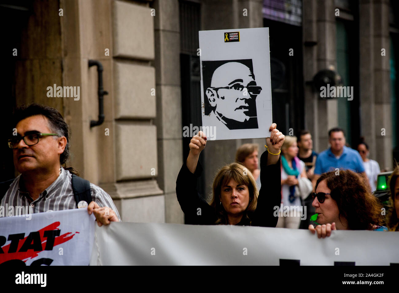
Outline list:
[[[270,126],[267,151],[261,156],[261,184],[258,192],[252,173],[239,163],[226,165],[213,180],[210,204],[197,192],[197,178],[202,173],[198,162],[207,138],[199,132],[190,142],[190,153],[180,169],[176,181],[176,195],[186,216],[186,222],[199,225],[245,225],[275,227],[278,217],[275,208],[281,201],[280,148],[284,135]]]

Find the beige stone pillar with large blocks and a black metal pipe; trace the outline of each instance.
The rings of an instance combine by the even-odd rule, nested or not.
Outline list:
[[[81,100],[65,100],[72,165],[113,198],[123,221],[165,222],[158,172],[153,22],[148,4],[109,0],[61,2],[66,84],[81,85]],[[97,70],[104,67],[105,122],[98,117]],[[153,89],[153,91],[152,91]]]

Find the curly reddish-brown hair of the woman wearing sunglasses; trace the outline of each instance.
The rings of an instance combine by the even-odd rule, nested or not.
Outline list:
[[[322,174],[314,190],[326,180],[331,198],[338,205],[339,218],[343,216],[348,221],[349,230],[372,230],[373,225],[381,226],[382,205],[369,192],[365,178],[351,170],[339,170],[338,174],[336,171]]]

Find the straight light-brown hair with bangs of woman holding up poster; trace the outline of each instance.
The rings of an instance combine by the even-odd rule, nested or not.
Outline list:
[[[221,168],[216,174],[215,179],[213,179],[213,198],[209,205],[215,208],[217,214],[217,220],[215,224],[228,224],[227,212],[223,208],[223,205],[221,205],[220,197],[222,186],[228,184],[231,179],[238,184],[248,186],[249,204],[243,212],[243,218],[249,220],[251,223],[250,214],[256,210],[259,191],[251,171],[249,171],[240,163],[231,163],[230,165],[226,165]]]

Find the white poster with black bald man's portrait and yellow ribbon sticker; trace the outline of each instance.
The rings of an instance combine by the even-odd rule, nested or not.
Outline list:
[[[270,137],[269,28],[199,31],[202,127],[210,140]]]

